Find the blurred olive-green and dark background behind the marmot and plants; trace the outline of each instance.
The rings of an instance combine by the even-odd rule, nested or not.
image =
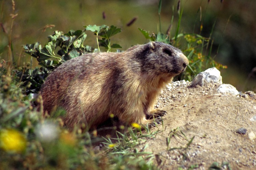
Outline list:
[[[171,37],[174,36],[178,19],[177,4],[177,0],[162,1],[161,31],[166,32],[174,16]],[[122,32],[115,35],[112,42],[120,44],[122,50],[148,41],[138,28],[155,33],[159,31],[157,0],[15,0],[14,12],[11,0],[0,0],[0,5],[0,58],[10,60],[8,42],[11,35],[13,56],[20,66],[30,61],[22,45],[36,41],[45,44],[47,36],[54,30],[67,33],[71,29],[83,30],[83,26],[89,24],[114,25],[122,28]],[[255,0],[181,0],[181,8],[180,32],[209,37],[214,29],[212,57],[228,67],[221,70],[223,83],[229,83],[239,91],[256,91]],[[12,19],[10,14],[18,15]],[[126,24],[134,17],[137,20],[127,27]],[[54,24],[55,27],[43,32],[47,24]],[[95,36],[90,32],[86,34],[85,44],[96,48]],[[37,63],[33,58],[33,66]]]

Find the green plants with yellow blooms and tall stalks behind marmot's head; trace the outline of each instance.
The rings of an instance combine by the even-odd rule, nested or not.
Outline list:
[[[159,15],[159,24],[160,24],[159,32],[158,33],[153,32],[150,34],[150,32],[145,31],[141,28],[139,28],[139,30],[146,39],[149,39],[150,41],[160,41],[166,44],[176,46],[180,48],[183,51],[183,53],[187,56],[189,60],[188,69],[186,70],[186,72],[183,72],[180,75],[180,77],[175,77],[174,81],[183,80],[183,79],[192,81],[195,75],[197,75],[199,72],[202,72],[204,69],[207,69],[210,67],[216,67],[217,69],[227,68],[227,66],[223,66],[222,64],[217,63],[211,57],[212,44],[213,44],[213,40],[211,39],[211,36],[212,36],[212,32],[215,24],[213,25],[213,28],[209,37],[203,37],[200,34],[195,34],[195,33],[179,33],[182,14],[183,14],[183,7],[181,7],[181,3],[180,1],[178,1],[178,4],[177,4],[178,22],[177,22],[175,34],[172,37],[170,34],[171,34],[171,28],[172,28],[173,19],[174,19],[174,5],[172,7],[172,11],[173,11],[173,15],[171,18],[171,23],[166,33],[161,32],[161,29],[162,29],[161,19],[160,19],[161,1],[159,1],[159,4],[158,4],[158,15]]]

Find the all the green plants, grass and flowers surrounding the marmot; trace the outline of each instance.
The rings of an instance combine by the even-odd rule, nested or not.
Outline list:
[[[14,1],[12,3],[13,25],[17,14],[14,14]],[[171,44],[184,51],[190,65],[179,79],[191,81],[205,68],[224,68],[211,58],[211,36],[206,38],[194,33],[180,33],[182,11],[183,8],[178,5],[179,18],[174,36],[170,35],[173,18],[167,33],[161,32],[161,0],[158,6],[159,32],[150,34],[143,29],[139,30],[146,39]],[[96,49],[84,44],[86,31],[96,35]],[[152,153],[144,150],[147,147],[146,141],[154,138],[159,131],[151,132],[144,127],[146,131],[142,133],[140,126],[133,124],[135,129],[128,128],[124,134],[116,132],[116,138],[106,137],[103,151],[97,153],[94,148],[94,143],[99,140],[97,132],[82,132],[80,129],[67,131],[60,118],[43,116],[42,107],[41,110],[34,107],[35,104],[42,106],[41,97],[35,97],[35,94],[52,70],[86,53],[103,49],[110,52],[113,48],[122,48],[112,44],[110,39],[120,32],[120,28],[105,25],[88,25],[84,30],[70,30],[66,34],[56,30],[48,36],[48,43],[44,46],[39,42],[24,45],[25,52],[31,56],[31,62],[23,67],[15,65],[12,54],[15,47],[9,39],[9,61],[0,62],[0,169],[157,169],[152,162]],[[207,51],[208,54],[204,55]],[[32,68],[33,57],[42,67]],[[176,135],[177,129],[170,132],[167,150],[170,150],[170,139]],[[183,133],[182,136],[186,138]],[[188,149],[193,138],[186,140],[188,143],[185,149]],[[144,147],[138,150],[136,147],[140,144]]]

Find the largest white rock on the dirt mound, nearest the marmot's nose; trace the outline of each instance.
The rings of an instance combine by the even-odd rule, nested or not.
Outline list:
[[[210,83],[210,82],[222,84],[221,72],[219,72],[219,70],[216,69],[215,67],[209,68],[197,74],[197,76],[192,81],[191,85],[203,86],[204,83]]]

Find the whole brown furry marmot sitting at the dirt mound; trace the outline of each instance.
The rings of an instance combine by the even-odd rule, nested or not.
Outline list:
[[[44,112],[66,110],[64,125],[95,129],[113,114],[125,124],[154,126],[165,111],[154,109],[160,90],[188,65],[181,50],[160,42],[124,52],[89,53],[56,68],[41,88]]]

